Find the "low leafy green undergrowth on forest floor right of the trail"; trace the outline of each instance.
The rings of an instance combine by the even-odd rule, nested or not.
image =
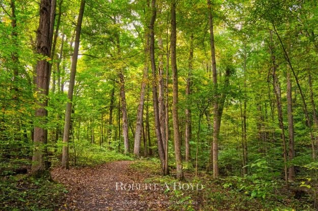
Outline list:
[[[302,183],[295,182],[294,187],[286,189],[283,181],[275,177],[265,178],[264,171],[269,169],[266,163],[259,160],[253,165],[256,173],[245,177],[227,177],[213,179],[204,171],[195,177],[193,169],[185,170],[184,183],[203,184],[203,190],[165,190],[171,203],[168,210],[274,210],[313,211],[313,199],[310,195],[295,196],[295,187],[300,188]],[[158,159],[138,160],[131,164],[131,168],[141,172],[151,172],[152,177],[145,183],[158,183],[168,185],[179,182],[174,172],[168,176],[158,176],[160,161]],[[274,173],[275,174],[275,173]],[[293,189],[294,188],[294,189]],[[178,203],[176,203],[178,202]]]

